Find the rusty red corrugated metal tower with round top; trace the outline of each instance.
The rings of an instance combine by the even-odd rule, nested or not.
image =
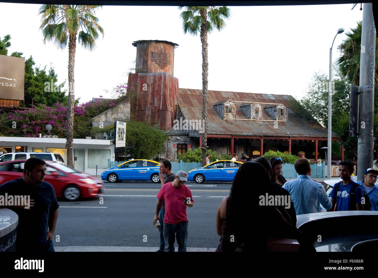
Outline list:
[[[163,130],[173,125],[179,97],[178,79],[173,76],[177,43],[165,40],[138,40],[135,73],[129,74],[131,120],[146,121]]]

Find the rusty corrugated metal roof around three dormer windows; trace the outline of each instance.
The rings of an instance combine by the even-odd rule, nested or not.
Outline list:
[[[301,115],[293,113],[290,107],[290,95],[256,94],[243,92],[208,91],[208,134],[245,135],[245,136],[282,136],[282,137],[327,137],[327,129],[322,127],[314,118],[305,121]],[[236,119],[222,120],[222,116],[214,107],[216,103],[231,99],[236,102]],[[245,101],[246,103],[238,103]],[[262,120],[249,120],[240,106],[253,102],[284,104],[288,107],[288,121],[278,122],[275,128],[274,118],[262,110]],[[202,90],[180,89],[180,98],[177,100],[181,112],[187,120],[201,119]],[[266,121],[268,120],[268,121]],[[288,134],[289,133],[289,134]],[[332,137],[336,133],[332,132]]]

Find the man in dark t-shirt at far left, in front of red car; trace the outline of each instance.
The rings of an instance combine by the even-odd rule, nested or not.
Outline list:
[[[16,252],[54,252],[53,237],[59,204],[53,186],[43,181],[45,171],[46,162],[31,157],[24,164],[22,177],[0,185],[2,196],[30,196],[28,205],[13,203],[6,206],[19,216]]]

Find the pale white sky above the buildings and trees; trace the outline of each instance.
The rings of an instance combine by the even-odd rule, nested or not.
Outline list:
[[[40,5],[0,3],[0,37],[11,35],[13,51],[33,55],[37,65],[53,65],[58,82],[68,81],[68,47],[43,43],[39,30]],[[338,28],[337,46],[345,33],[362,20],[352,4],[312,6],[229,6],[231,17],[222,31],[208,36],[209,90],[287,94],[301,98],[316,71],[328,75],[329,48]],[[96,12],[104,38],[94,51],[77,44],[75,98],[110,97],[104,92],[127,82],[134,67],[135,40],[168,40],[175,49],[174,76],[180,88],[202,89],[201,41],[184,35],[176,6],[104,6]],[[68,82],[67,82],[68,83]]]

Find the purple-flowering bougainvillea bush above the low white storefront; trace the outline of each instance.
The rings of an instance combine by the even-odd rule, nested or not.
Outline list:
[[[114,106],[113,101],[87,102],[75,106],[74,138],[85,138],[90,134],[91,118]],[[0,111],[0,136],[39,137],[47,134],[46,124],[53,127],[51,132],[59,138],[66,137],[67,106],[59,102],[52,107],[45,104],[29,110]]]

